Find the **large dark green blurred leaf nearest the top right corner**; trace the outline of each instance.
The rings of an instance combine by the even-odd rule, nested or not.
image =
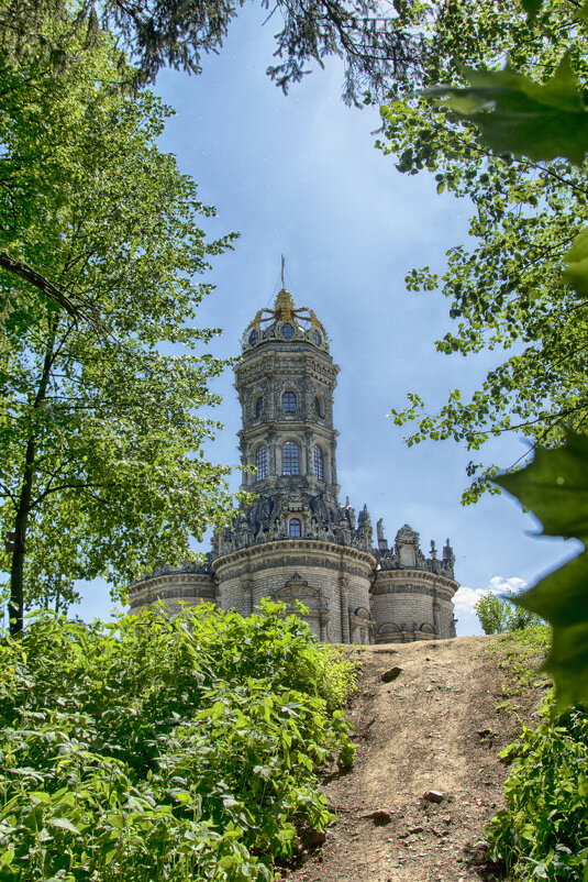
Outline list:
[[[443,97],[452,110],[476,122],[480,141],[496,153],[534,161],[564,157],[581,165],[588,150],[588,113],[567,54],[545,82],[509,67],[464,73],[469,87],[437,86],[424,95]]]

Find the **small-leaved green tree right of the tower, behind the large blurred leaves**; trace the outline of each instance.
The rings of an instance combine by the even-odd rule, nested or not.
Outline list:
[[[532,22],[515,0],[446,2],[440,10],[425,85],[465,86],[469,68],[501,68],[507,57],[541,81],[553,76],[565,49],[580,82],[588,75],[577,4],[546,2]],[[503,74],[509,76],[514,74]],[[415,423],[409,443],[454,439],[473,452],[510,431],[524,433],[533,445],[561,443],[566,429],[580,430],[588,416],[586,306],[562,279],[572,240],[588,217],[586,167],[574,165],[577,153],[554,151],[553,144],[550,150],[550,139],[561,143],[569,132],[555,112],[537,118],[533,128],[531,112],[512,99],[502,136],[490,144],[478,137],[474,117],[457,112],[475,109],[469,88],[447,108],[414,96],[418,85],[414,79],[398,85],[382,108],[386,137],[379,146],[398,157],[400,170],[434,174],[439,192],[469,201],[471,241],[450,250],[442,280],[424,267],[412,271],[407,283],[413,290],[441,285],[450,300],[455,327],[437,341],[437,351],[468,356],[492,350],[496,365],[473,395],[455,390],[436,412],[419,393],[411,394],[408,407],[392,410],[396,422]],[[487,84],[487,106],[498,86],[495,79]],[[577,87],[575,95],[578,102]],[[532,100],[540,102],[537,96]],[[489,126],[495,114],[480,119]],[[576,134],[579,124],[576,113]],[[497,472],[496,465],[473,460],[474,482],[464,499],[476,499]]]

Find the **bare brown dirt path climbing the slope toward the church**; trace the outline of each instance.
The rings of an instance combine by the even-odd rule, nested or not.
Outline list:
[[[466,882],[484,868],[484,827],[502,805],[498,752],[517,720],[497,714],[503,674],[484,647],[491,637],[369,647],[350,716],[352,772],[325,783],[337,815],[322,848],[290,882]],[[398,677],[381,673],[401,668]],[[530,704],[540,693],[531,695]],[[423,798],[443,794],[439,803]],[[389,818],[363,817],[385,812]]]

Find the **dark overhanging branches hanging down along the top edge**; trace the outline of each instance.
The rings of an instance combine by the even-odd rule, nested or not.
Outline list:
[[[3,0],[0,31],[3,47],[20,54],[30,49],[36,29],[48,19],[66,19],[77,32],[95,32],[100,20],[118,34],[144,82],[165,65],[199,74],[202,55],[221,49],[243,5],[244,0],[78,0],[71,19],[65,0]],[[262,0],[262,5],[269,10],[267,21],[275,21],[275,14],[279,21],[274,53],[278,63],[267,74],[285,92],[309,73],[309,62],[322,67],[323,59],[334,55],[345,63],[345,100],[357,103],[364,88],[382,95],[391,77],[421,62],[423,38],[404,26],[412,23],[412,15],[407,18],[412,3],[406,0],[396,0],[395,9],[384,12],[378,0]],[[43,35],[43,42],[58,64],[66,62],[58,41]]]

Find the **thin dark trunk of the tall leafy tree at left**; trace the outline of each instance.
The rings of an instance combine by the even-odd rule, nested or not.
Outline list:
[[[43,371],[38,382],[35,400],[33,403],[33,409],[42,407],[47,395],[47,386],[49,383],[51,368],[53,366],[54,359],[55,332],[57,330],[57,322],[55,320],[52,321],[49,319],[48,330],[49,333],[47,345],[45,348]],[[10,633],[12,637],[20,635],[24,627],[24,555],[26,551],[26,528],[29,526],[29,517],[31,515],[33,501],[33,483],[36,465],[35,460],[36,437],[31,434],[26,442],[24,474],[22,478],[19,505],[16,508],[16,517],[14,518],[14,549],[12,551],[12,565],[10,567],[10,600],[8,605]]]

